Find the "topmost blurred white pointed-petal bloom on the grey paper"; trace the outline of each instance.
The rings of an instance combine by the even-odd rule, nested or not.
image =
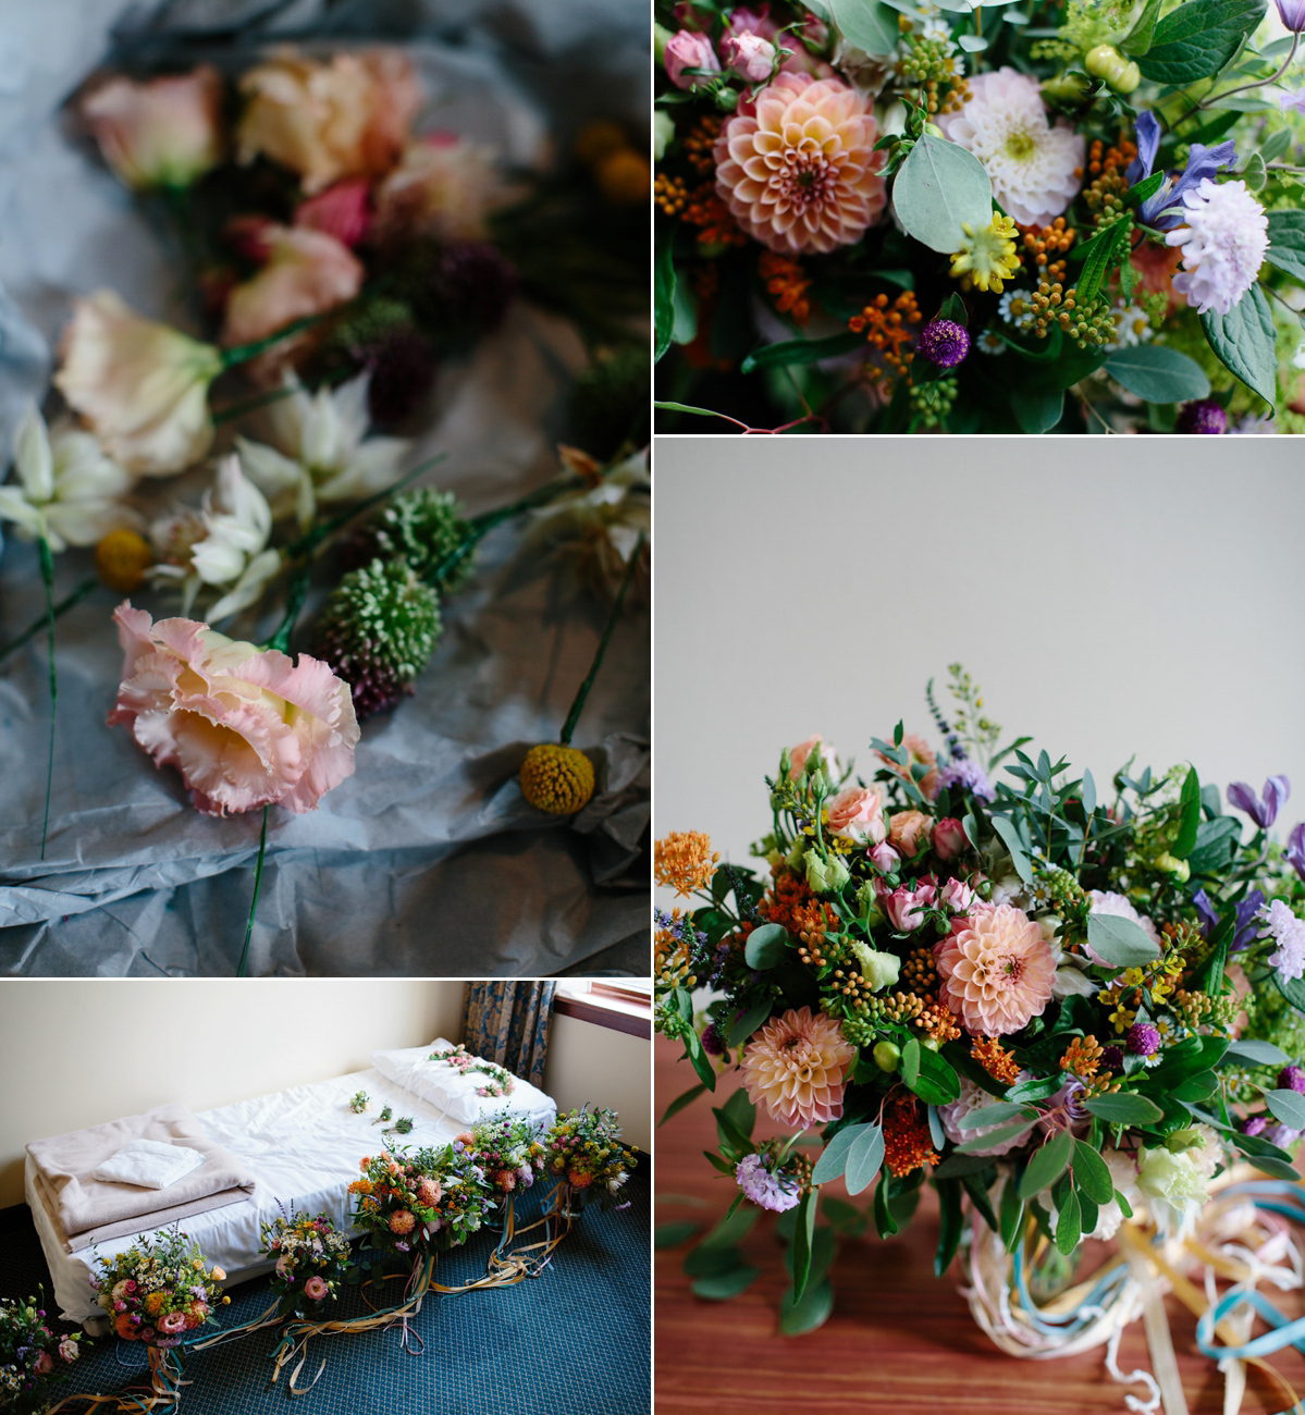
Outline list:
[[[276,446],[236,439],[246,471],[276,515],[293,511],[307,528],[318,501],[354,501],[398,480],[409,444],[403,437],[365,437],[367,374],[311,396],[289,376],[286,385],[294,391],[268,410]]]

